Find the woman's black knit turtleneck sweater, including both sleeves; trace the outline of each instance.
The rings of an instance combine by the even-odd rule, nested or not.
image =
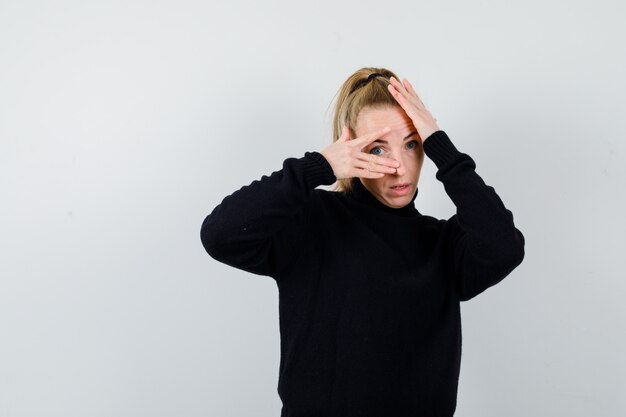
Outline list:
[[[452,416],[461,363],[460,301],[506,277],[524,236],[493,187],[442,130],[423,142],[457,213],[347,193],[318,152],[241,187],[201,240],[216,260],[275,279],[281,417]]]

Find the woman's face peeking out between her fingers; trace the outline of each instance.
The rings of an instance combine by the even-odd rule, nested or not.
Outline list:
[[[363,152],[393,158],[400,162],[395,173],[381,178],[359,178],[367,190],[383,204],[401,208],[413,200],[424,162],[422,139],[413,126],[413,121],[401,107],[365,107],[359,113],[355,128],[355,138],[366,133],[391,127],[391,131],[376,139]],[[392,187],[408,184],[400,190]]]

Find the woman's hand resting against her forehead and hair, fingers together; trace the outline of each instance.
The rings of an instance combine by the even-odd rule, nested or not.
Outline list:
[[[387,86],[389,92],[413,121],[422,142],[436,131],[441,130],[437,125],[437,119],[426,109],[409,80],[405,78],[404,84],[400,84],[394,77],[389,77],[389,82],[390,84]]]

